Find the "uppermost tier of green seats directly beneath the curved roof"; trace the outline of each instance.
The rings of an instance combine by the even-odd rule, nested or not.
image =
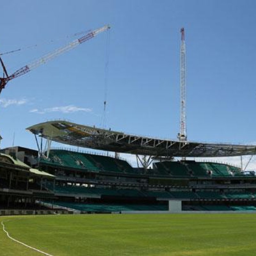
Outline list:
[[[125,160],[69,150],[50,150],[49,158],[40,159],[42,164],[50,164],[78,170],[95,172],[112,172],[138,174],[138,168],[133,168]],[[141,172],[139,172],[140,174]],[[153,163],[153,169],[143,172],[153,176],[170,177],[232,177],[244,175],[240,168],[228,164],[196,161],[162,161]]]

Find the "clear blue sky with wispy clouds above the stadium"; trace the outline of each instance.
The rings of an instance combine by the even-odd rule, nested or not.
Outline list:
[[[108,50],[103,32],[7,84],[1,148],[36,148],[25,128],[47,120],[102,127],[105,95],[107,128],[176,138],[181,27],[188,140],[256,144],[255,10],[253,0],[2,1],[0,52],[21,49],[2,55],[9,74],[76,33],[111,29]]]

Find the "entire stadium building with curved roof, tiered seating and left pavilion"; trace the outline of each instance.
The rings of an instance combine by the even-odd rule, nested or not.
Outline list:
[[[38,151],[2,150],[2,208],[33,204],[81,213],[256,210],[254,172],[211,161],[174,160],[177,156],[255,154],[255,146],[152,139],[66,121],[37,124],[28,131],[45,138],[45,147],[36,140]],[[117,154],[51,148],[51,140],[132,153],[142,167],[132,167]]]

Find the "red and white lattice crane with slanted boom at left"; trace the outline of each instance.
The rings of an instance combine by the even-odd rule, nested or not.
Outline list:
[[[2,89],[5,88],[5,85],[12,79],[16,78],[16,77],[19,77],[19,76],[22,76],[26,73],[28,73],[30,70],[34,69],[34,68],[37,68],[38,66],[42,65],[42,64],[45,64],[46,62],[48,62],[49,60],[52,60],[54,58],[56,58],[57,56],[59,56],[60,54],[64,53],[64,52],[68,52],[72,49],[74,49],[76,46],[78,46],[79,44],[82,44],[84,42],[86,42],[87,40],[95,37],[96,35],[98,35],[100,32],[103,32],[105,30],[108,30],[110,27],[109,25],[105,25],[104,27],[102,28],[98,28],[98,29],[95,29],[93,30],[92,32],[72,41],[71,43],[63,46],[63,47],[60,47],[56,50],[54,50],[53,52],[50,52],[50,53],[47,53],[46,55],[44,55],[43,57],[27,64],[26,66],[18,69],[17,71],[15,71],[12,75],[8,75],[7,73],[7,70],[4,66],[4,62],[2,60],[2,58],[0,57],[0,62],[1,62],[1,65],[3,67],[3,71],[4,71],[4,75],[3,77],[0,77],[0,93],[2,91]]]

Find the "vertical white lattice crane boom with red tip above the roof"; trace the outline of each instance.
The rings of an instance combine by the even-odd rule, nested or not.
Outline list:
[[[180,46],[180,132],[178,139],[180,141],[187,140],[186,127],[186,99],[185,99],[185,31],[180,29],[181,46]]]

